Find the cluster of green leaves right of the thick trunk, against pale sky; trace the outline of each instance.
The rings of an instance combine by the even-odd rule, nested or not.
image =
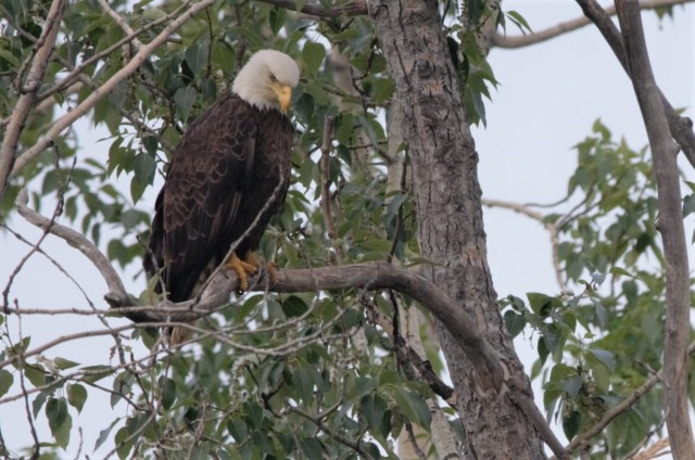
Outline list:
[[[507,329],[517,335],[528,325],[538,337],[531,376],[543,376],[547,417],[570,439],[652,378],[664,352],[666,267],[653,165],[646,149],[616,141],[601,120],[592,131],[576,145],[568,184],[576,205],[545,218],[559,231],[563,272],[579,293],[502,301]],[[623,458],[660,433],[661,399],[660,389],[643,396],[592,440],[592,458]]]

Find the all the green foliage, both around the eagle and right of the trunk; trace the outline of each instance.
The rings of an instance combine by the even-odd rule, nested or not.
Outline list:
[[[504,27],[505,17],[529,27],[496,2],[467,3],[473,31],[453,23],[446,27],[447,40],[470,120],[484,124],[483,95],[490,99],[489,86],[496,80],[479,46],[480,30],[486,21]],[[132,7],[112,2],[130,27],[143,29],[143,43],[166,27],[161,18],[179,7],[173,1],[156,7],[147,0]],[[12,88],[0,92],[0,118],[7,119],[48,4],[5,0],[0,8],[0,86]],[[135,51],[132,44],[113,48],[126,33],[96,1],[71,4],[61,30],[56,59],[20,151]],[[262,2],[218,2],[188,21],[89,113],[105,133],[103,152],[81,152],[77,132],[59,137],[13,180],[0,203],[0,216],[9,216],[2,222],[11,222],[14,199],[28,189],[34,206],[49,215],[55,201],[62,203],[63,219],[122,268],[139,264],[152,209],[144,193],[159,184],[187,124],[229,89],[250,51],[262,48],[291,54],[303,71],[293,100],[292,187],[263,241],[263,255],[281,268],[324,266],[337,253],[341,264],[392,258],[421,264],[407,187],[391,190],[387,183],[389,166],[397,161],[407,168],[407,159],[400,146],[395,157],[389,156],[383,119],[394,85],[369,21],[309,20]],[[345,71],[329,51],[350,63],[346,85]],[[76,67],[79,84],[68,79]],[[328,115],[337,117],[328,171],[338,209],[333,239],[326,238],[318,206],[319,149]],[[548,418],[560,419],[570,438],[660,367],[662,332],[649,325],[664,317],[655,188],[645,151],[616,142],[598,122],[577,151],[568,199],[579,204],[546,219],[560,231],[563,270],[581,292],[561,297],[529,293],[527,299],[502,302],[509,332],[538,340],[540,356],[531,376],[543,379]],[[685,200],[688,213],[695,206],[692,196]],[[20,385],[29,388],[31,416],[45,418],[52,436],[40,439],[46,458],[52,449],[60,456],[61,449],[76,448],[74,420],[97,392],[111,395],[101,432],[85,447],[99,457],[397,458],[394,438],[401,432],[412,425],[428,432],[426,401],[433,397],[426,381],[404,371],[395,352],[397,328],[394,336],[375,320],[384,317],[397,325],[399,307],[418,308],[394,293],[358,290],[247,294],[201,321],[207,332],[177,353],[166,352],[155,329],[126,328],[113,350],[118,361],[109,366],[54,355],[27,357],[30,331],[13,342],[14,325],[8,321],[0,324],[7,344],[0,352],[0,398],[22,397]],[[626,343],[634,347],[627,349]],[[438,354],[428,358],[434,368],[443,367]],[[660,405],[658,392],[644,396],[601,435],[595,458],[621,457],[658,431]],[[457,417],[450,417],[454,426]]]

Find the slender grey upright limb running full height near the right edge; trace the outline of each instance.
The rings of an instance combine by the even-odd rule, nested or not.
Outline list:
[[[640,4],[617,0],[627,64],[640,103],[654,156],[659,222],[666,257],[666,336],[664,387],[666,425],[678,459],[695,459],[695,442],[688,417],[687,344],[690,341],[690,277],[687,245],[681,210],[678,146],[669,131],[664,102],[647,53]]]

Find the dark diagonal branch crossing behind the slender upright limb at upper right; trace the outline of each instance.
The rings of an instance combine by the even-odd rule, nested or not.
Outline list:
[[[630,78],[633,78],[630,74],[630,68],[627,63],[624,46],[622,42],[622,36],[620,31],[610,20],[610,16],[604,11],[603,8],[595,0],[576,0],[580,5],[584,15],[589,17],[595,25],[596,28],[604,36],[608,46],[612,50],[616,58],[622,65],[622,68],[626,71]],[[671,135],[673,139],[679,143],[680,148],[683,150],[685,157],[690,162],[690,164],[695,167],[695,133],[693,132],[693,120],[687,117],[682,117],[675,112],[675,108],[671,105],[671,103],[666,99],[666,95],[656,88],[659,97],[661,98],[661,102],[664,104],[664,110],[666,111],[666,116],[668,118],[669,128],[671,130]]]

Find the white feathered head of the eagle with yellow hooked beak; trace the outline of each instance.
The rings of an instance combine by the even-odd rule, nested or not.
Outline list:
[[[299,82],[300,67],[292,58],[275,50],[261,50],[241,68],[231,89],[257,108],[286,112],[292,88]]]

